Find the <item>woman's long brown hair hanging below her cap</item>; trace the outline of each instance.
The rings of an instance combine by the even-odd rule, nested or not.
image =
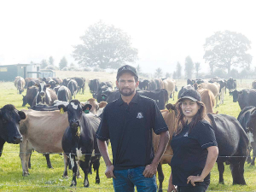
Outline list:
[[[190,125],[189,125],[189,132],[195,127],[195,125],[201,121],[202,119],[206,119],[208,122],[210,122],[210,119],[207,117],[207,108],[203,102],[196,102],[200,108],[198,109],[198,112],[193,117]],[[183,130],[183,127],[186,125],[187,120],[185,119],[185,115],[183,114],[183,110],[181,108],[182,102],[177,102],[176,108],[177,108],[177,118],[175,122],[175,128],[174,131],[176,134],[180,133]]]

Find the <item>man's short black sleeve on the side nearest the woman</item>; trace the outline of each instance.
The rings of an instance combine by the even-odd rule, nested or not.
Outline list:
[[[154,111],[153,114],[153,130],[156,135],[159,135],[161,132],[168,131],[168,126],[166,125],[166,121],[163,118],[163,115],[160,113],[159,108],[157,107],[156,102],[154,102],[154,107],[152,109]]]

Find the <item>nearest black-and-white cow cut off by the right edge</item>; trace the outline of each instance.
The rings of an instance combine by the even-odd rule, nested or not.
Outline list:
[[[250,166],[254,166],[256,156],[256,108],[254,106],[245,107],[239,113],[237,120],[240,122],[242,128],[247,133],[249,138],[249,150],[247,156],[247,163],[251,163]],[[253,149],[253,160],[251,159],[250,152]]]

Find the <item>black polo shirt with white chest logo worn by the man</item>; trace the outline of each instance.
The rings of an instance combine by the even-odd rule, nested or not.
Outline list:
[[[136,93],[129,105],[119,99],[104,108],[96,138],[110,139],[114,169],[147,166],[154,159],[152,130],[168,131],[154,100]]]

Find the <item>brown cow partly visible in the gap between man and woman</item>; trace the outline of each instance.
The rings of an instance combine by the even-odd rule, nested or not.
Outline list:
[[[160,163],[157,166],[157,172],[158,172],[158,180],[159,180],[159,189],[161,191],[162,189],[162,183],[164,181],[165,175],[162,169],[162,164],[168,164],[169,166],[171,166],[171,160],[172,160],[172,148],[170,145],[170,141],[172,140],[172,135],[173,135],[173,131],[174,131],[174,122],[175,122],[175,106],[172,104],[167,104],[166,108],[168,110],[161,110],[161,113],[166,121],[166,125],[168,125],[168,130],[170,133],[170,140],[169,140],[169,144],[166,147],[166,151],[165,154],[163,154]],[[154,153],[156,153],[157,148],[158,148],[158,143],[160,141],[160,135],[156,135],[153,132],[153,143],[154,143]]]

